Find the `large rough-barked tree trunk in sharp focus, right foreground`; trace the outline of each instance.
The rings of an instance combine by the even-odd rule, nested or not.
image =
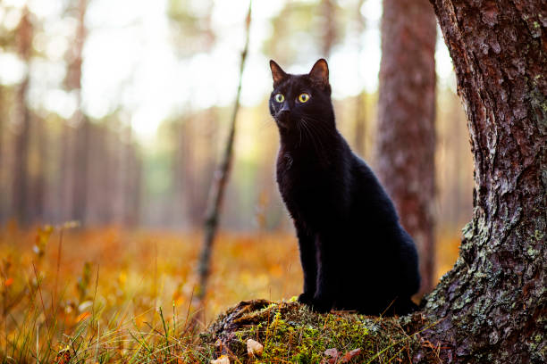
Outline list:
[[[467,112],[473,221],[427,297],[427,333],[465,363],[547,361],[547,7],[434,0]]]

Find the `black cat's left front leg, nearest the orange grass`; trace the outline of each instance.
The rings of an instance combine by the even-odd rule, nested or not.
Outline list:
[[[304,272],[304,292],[299,295],[299,302],[311,305],[316,294],[317,263],[316,243],[305,227],[295,222],[297,236],[299,237],[300,262]]]

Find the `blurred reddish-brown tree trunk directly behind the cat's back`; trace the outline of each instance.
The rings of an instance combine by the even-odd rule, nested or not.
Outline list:
[[[384,0],[377,166],[434,284],[435,18],[427,0]]]

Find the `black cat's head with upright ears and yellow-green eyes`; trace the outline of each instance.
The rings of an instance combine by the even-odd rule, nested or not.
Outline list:
[[[286,73],[270,61],[273,91],[270,95],[270,113],[283,132],[299,132],[314,123],[334,127],[334,113],[329,84],[329,66],[324,59],[314,64],[307,74]]]

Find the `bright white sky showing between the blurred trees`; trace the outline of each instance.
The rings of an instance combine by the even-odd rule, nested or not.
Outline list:
[[[262,49],[265,39],[271,37],[270,19],[282,10],[285,1],[253,2],[250,53],[242,87],[244,105],[261,102],[270,91],[270,55],[263,54]],[[40,75],[32,79],[31,104],[69,118],[76,109],[76,100],[62,87],[63,54],[75,31],[74,20],[63,17],[63,2],[58,0],[5,0],[4,4],[19,9],[29,4],[44,24],[35,47],[45,57],[30,65],[33,73]],[[190,1],[189,5],[196,13],[209,11],[199,0]],[[247,6],[243,0],[215,1],[212,27],[222,37],[216,38],[211,52],[183,58],[175,49],[183,42],[173,42],[166,0],[90,1],[82,80],[85,112],[100,119],[122,108],[128,111],[125,121],[131,123],[140,138],[147,139],[173,114],[230,104],[237,85]],[[363,88],[374,92],[378,85],[381,1],[366,0],[361,13],[366,17],[362,37],[345,37],[332,50],[329,64],[335,98],[357,95]],[[18,11],[0,10],[0,20],[7,28],[15,27]],[[361,54],[357,42],[362,44]],[[450,56],[443,42],[437,46],[439,76],[450,78]],[[282,66],[290,72],[307,72],[320,56],[310,54],[306,64]],[[17,83],[25,71],[15,55],[0,54],[0,82]]]

